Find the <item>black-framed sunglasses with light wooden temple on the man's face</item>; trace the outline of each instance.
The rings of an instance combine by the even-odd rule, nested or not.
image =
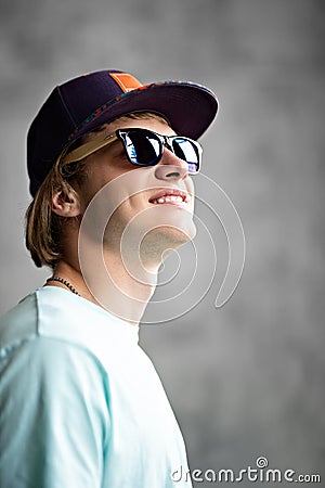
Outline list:
[[[95,139],[66,154],[64,164],[83,159],[90,154],[115,142],[121,141],[128,160],[135,166],[155,166],[162,157],[164,147],[187,163],[187,170],[194,175],[199,171],[202,146],[184,136],[161,136],[148,129],[118,129],[104,139]]]

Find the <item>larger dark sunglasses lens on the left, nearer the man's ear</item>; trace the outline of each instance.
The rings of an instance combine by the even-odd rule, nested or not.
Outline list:
[[[161,143],[151,131],[129,130],[123,133],[123,141],[133,165],[153,166],[161,157]]]

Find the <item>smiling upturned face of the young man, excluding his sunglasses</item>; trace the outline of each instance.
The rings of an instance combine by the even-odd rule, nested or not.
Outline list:
[[[133,127],[164,136],[176,134],[159,119],[123,118],[107,125],[103,131],[92,132],[88,140]],[[167,147],[156,166],[139,167],[129,163],[122,143],[115,141],[88,157],[87,179],[79,193],[81,214],[92,202],[99,220],[107,217],[104,246],[119,246],[123,232],[128,232],[130,242],[133,239],[136,243],[141,237],[145,252],[161,253],[195,235],[194,187],[187,164]]]

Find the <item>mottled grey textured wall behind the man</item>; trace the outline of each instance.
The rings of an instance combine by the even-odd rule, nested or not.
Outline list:
[[[266,455],[324,484],[324,11],[318,0],[1,2],[1,312],[49,275],[23,243],[25,134],[55,84],[116,67],[197,80],[220,99],[205,174],[239,211],[244,275],[223,308],[214,284],[190,313],[142,331],[192,468]]]

